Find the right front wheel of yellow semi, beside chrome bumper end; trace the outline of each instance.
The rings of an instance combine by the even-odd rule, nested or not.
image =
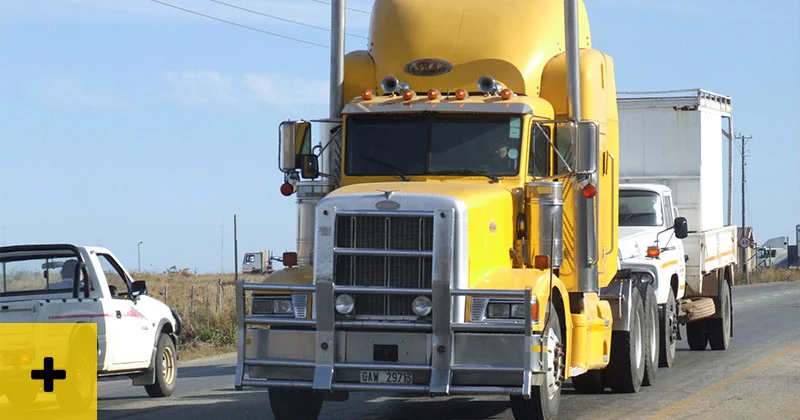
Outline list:
[[[547,337],[547,379],[544,386],[531,387],[531,399],[512,395],[511,412],[516,420],[552,420],[558,414],[561,404],[561,384],[564,372],[564,339],[561,321],[555,306],[551,303],[544,331]]]

